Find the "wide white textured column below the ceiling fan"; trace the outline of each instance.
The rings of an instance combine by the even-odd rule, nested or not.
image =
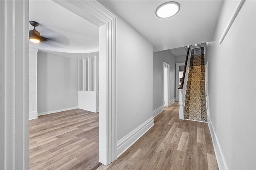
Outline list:
[[[29,120],[37,119],[37,53],[38,49],[29,48],[28,52],[28,111]]]

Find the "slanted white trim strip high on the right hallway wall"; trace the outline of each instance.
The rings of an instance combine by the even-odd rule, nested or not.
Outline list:
[[[232,26],[234,20],[236,19],[236,16],[238,15],[238,13],[240,12],[242,6],[244,5],[245,0],[240,0],[240,2],[238,2],[238,4],[236,5],[234,11],[232,12],[230,19],[228,20],[228,24],[226,25],[224,31],[222,32],[222,35],[220,36],[220,40],[219,43],[222,43],[222,41],[224,40],[226,34],[228,33],[230,27]]]

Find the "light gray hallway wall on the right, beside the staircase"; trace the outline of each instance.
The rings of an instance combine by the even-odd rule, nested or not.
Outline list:
[[[237,3],[224,1],[214,41],[206,45],[210,125],[223,155],[220,168],[252,170],[256,169],[256,1],[244,3],[218,43]]]

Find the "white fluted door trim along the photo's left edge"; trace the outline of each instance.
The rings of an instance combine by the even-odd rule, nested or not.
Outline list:
[[[29,169],[27,0],[0,0],[0,169]]]

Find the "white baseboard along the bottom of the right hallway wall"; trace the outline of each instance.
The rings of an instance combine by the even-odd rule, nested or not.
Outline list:
[[[228,168],[227,168],[226,162],[224,160],[224,157],[223,157],[223,154],[222,154],[222,150],[220,148],[220,144],[219,144],[218,138],[216,136],[214,128],[212,127],[211,120],[208,120],[208,127],[210,129],[210,134],[212,136],[212,143],[213,143],[214,152],[215,152],[215,156],[216,156],[216,160],[217,160],[219,169],[220,170],[227,170]]]

